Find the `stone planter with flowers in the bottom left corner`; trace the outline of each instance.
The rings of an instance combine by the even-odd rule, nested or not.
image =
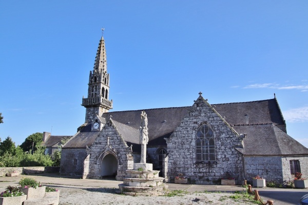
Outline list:
[[[22,205],[27,199],[27,195],[20,191],[17,187],[8,186],[6,191],[0,194],[0,205]]]

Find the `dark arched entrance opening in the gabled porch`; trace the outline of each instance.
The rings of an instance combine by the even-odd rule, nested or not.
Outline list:
[[[115,177],[118,172],[118,160],[112,154],[107,154],[101,163],[102,177]]]

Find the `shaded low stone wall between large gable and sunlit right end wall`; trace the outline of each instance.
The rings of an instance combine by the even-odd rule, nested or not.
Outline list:
[[[281,157],[279,156],[244,156],[244,179],[252,181],[259,175],[265,181],[282,182]],[[290,172],[290,164],[288,167]]]

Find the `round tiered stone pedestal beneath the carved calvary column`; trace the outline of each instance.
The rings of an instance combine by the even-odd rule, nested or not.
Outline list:
[[[131,196],[164,195],[164,191],[168,186],[164,185],[164,178],[158,176],[159,171],[152,170],[152,164],[134,163],[133,167],[134,170],[125,171],[123,183],[119,185],[121,193]]]

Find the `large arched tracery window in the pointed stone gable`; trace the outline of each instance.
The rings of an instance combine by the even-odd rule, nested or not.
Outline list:
[[[197,130],[196,160],[215,161],[214,132],[207,125],[202,125]]]

